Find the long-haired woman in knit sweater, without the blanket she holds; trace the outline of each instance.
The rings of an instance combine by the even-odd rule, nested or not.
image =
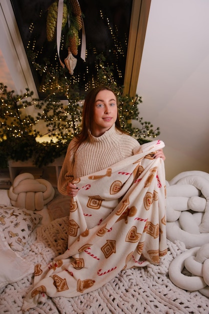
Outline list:
[[[76,185],[71,182],[103,170],[139,149],[139,142],[120,127],[116,94],[106,86],[92,89],[84,102],[82,131],[69,144],[58,180],[63,195],[75,197]],[[162,149],[155,158],[165,160]]]

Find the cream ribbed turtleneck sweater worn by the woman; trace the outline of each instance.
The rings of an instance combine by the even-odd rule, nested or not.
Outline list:
[[[131,155],[139,142],[130,135],[120,133],[115,124],[99,137],[91,135],[75,151],[74,138],[69,146],[58,180],[58,191],[67,195],[66,187],[73,179],[105,169]]]

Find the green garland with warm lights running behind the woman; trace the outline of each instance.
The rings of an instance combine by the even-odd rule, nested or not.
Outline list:
[[[134,98],[123,95],[123,86],[118,87],[112,78],[111,68],[104,67],[103,57],[98,56],[100,69],[97,84],[108,84],[118,95],[119,115],[121,126],[139,143],[150,141],[160,134],[159,127],[153,129],[149,121],[143,121],[138,109],[141,97]],[[62,72],[36,65],[39,71],[47,72],[47,79],[55,88],[50,89],[44,100],[33,98],[33,91],[28,88],[23,95],[9,91],[7,86],[0,83],[0,163],[1,168],[8,167],[9,160],[33,160],[37,167],[47,166],[60,156],[65,155],[68,144],[80,132],[82,105],[81,95],[76,85],[71,85]],[[52,74],[53,73],[53,74]],[[54,82],[53,82],[54,80]],[[59,86],[59,88],[58,88]],[[66,101],[58,100],[60,90],[65,91]],[[36,116],[30,112],[31,106],[38,111]],[[34,111],[34,110],[31,110]],[[137,121],[139,127],[133,127],[131,121]],[[39,125],[44,125],[44,132],[40,133]],[[49,141],[41,140],[48,136]],[[56,140],[56,141],[55,141]]]

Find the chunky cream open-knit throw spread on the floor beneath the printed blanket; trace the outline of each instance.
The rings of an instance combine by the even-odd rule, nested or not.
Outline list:
[[[37,239],[36,239],[37,233]],[[22,256],[34,264],[48,263],[65,252],[68,241],[68,217],[41,226],[26,245]],[[176,287],[168,277],[170,262],[184,252],[182,242],[167,240],[168,253],[159,265],[130,268],[90,293],[73,298],[43,298],[44,303],[29,314],[109,314],[166,313],[199,314],[209,312],[209,299],[198,291],[188,292]],[[29,275],[0,290],[0,313],[22,314],[23,299],[32,287]]]

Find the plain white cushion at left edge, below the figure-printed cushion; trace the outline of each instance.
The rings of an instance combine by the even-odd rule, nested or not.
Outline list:
[[[0,228],[0,289],[34,272],[34,265],[27,262],[9,247]]]

